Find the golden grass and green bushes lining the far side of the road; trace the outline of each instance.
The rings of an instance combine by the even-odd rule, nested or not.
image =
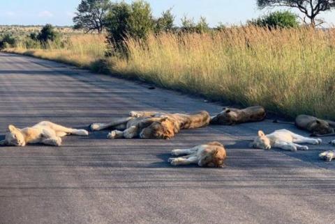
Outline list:
[[[144,1],[110,7],[102,34],[42,40],[42,29],[20,39],[2,35],[0,47],[292,117],[335,119],[334,29],[304,26],[287,11],[216,28],[184,17],[176,27],[171,10],[154,18]]]

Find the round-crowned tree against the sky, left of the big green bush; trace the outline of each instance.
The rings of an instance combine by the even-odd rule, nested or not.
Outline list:
[[[105,16],[110,9],[110,0],[82,0],[73,17],[75,29],[84,29],[86,33],[98,31],[102,33],[105,28]]]

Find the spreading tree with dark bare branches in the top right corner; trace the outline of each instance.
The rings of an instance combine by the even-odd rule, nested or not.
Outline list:
[[[273,6],[286,6],[290,8],[297,8],[301,13],[304,13],[304,22],[306,17],[310,19],[312,27],[322,24],[316,24],[317,17],[321,12],[331,10],[335,7],[334,0],[257,0],[260,8],[273,7]]]

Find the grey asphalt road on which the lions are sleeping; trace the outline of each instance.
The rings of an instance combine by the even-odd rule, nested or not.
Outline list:
[[[221,110],[218,104],[36,58],[0,54],[0,138],[9,124],[87,127],[131,110]],[[63,146],[0,147],[0,223],[335,223],[335,161],[255,150],[248,141],[291,125],[181,131],[170,141],[67,136]],[[325,143],[330,138],[325,138]],[[226,145],[225,168],[172,167],[170,150]]]

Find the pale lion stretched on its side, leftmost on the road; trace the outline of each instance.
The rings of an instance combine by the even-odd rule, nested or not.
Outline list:
[[[89,132],[84,129],[63,127],[49,121],[39,122],[33,127],[25,127],[23,129],[9,125],[6,138],[0,141],[0,145],[24,146],[29,143],[43,143],[45,145],[59,146],[61,145],[61,137],[68,134],[88,136]]]

